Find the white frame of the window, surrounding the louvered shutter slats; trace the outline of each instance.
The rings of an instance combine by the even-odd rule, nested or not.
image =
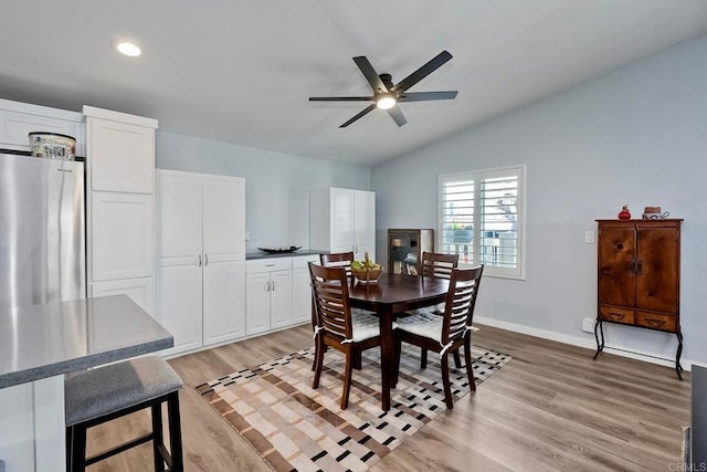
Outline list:
[[[516,233],[517,233],[517,268],[500,268],[497,265],[486,264],[484,266],[484,276],[499,277],[499,279],[513,279],[513,280],[526,280],[526,182],[527,182],[527,166],[525,164],[517,166],[495,167],[489,169],[467,170],[463,172],[454,174],[441,174],[437,178],[437,237],[435,238],[435,250],[437,252],[443,251],[444,245],[444,183],[454,181],[472,180],[474,182],[474,228],[481,228],[481,221],[478,220],[482,202],[482,190],[478,185],[483,178],[494,177],[518,177],[518,196],[517,196],[517,212],[516,212]],[[473,253],[479,254],[481,251],[481,232],[474,231],[473,240]],[[460,262],[460,268],[471,268],[475,264]]]

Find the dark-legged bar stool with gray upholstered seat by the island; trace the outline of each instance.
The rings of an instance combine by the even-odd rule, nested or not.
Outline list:
[[[152,441],[155,471],[183,471],[179,389],[181,378],[161,357],[140,357],[66,378],[66,470],[86,466],[136,445]],[[171,454],[162,434],[162,403],[167,402]],[[113,419],[150,408],[152,431],[99,454],[86,458],[86,430]]]

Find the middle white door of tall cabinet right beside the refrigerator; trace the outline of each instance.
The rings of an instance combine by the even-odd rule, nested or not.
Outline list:
[[[91,198],[93,280],[151,276],[152,196],[93,192]]]

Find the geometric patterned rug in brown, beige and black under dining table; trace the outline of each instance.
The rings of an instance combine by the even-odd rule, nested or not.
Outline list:
[[[472,346],[478,386],[510,356]],[[341,410],[344,356],[325,355],[319,388],[312,389],[314,348],[202,384],[199,394],[275,471],[366,471],[446,409],[439,356],[420,369],[420,349],[403,344],[391,408],[380,399],[380,349],[363,353],[354,370],[349,406]],[[464,356],[462,355],[462,361]],[[466,371],[450,378],[456,403],[469,392]]]

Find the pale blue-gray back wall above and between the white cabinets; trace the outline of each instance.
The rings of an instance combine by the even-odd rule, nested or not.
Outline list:
[[[245,220],[258,247],[309,247],[308,190],[369,190],[370,168],[159,132],[157,168],[245,178]],[[317,249],[317,248],[314,248]]]

